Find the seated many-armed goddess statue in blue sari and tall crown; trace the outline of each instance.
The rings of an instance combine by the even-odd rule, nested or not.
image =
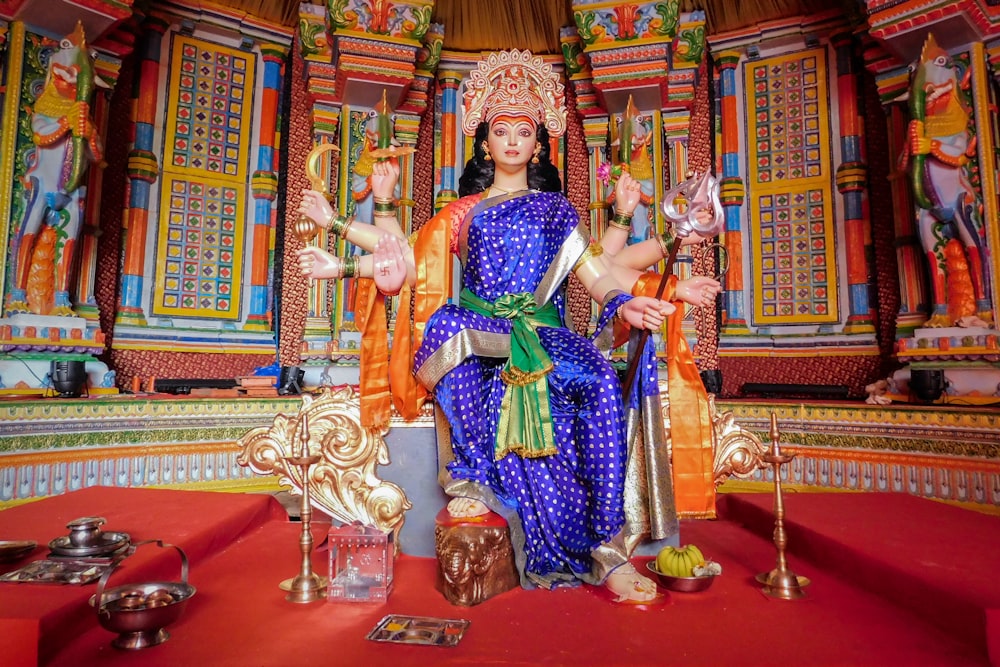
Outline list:
[[[666,452],[630,455],[626,405],[657,396],[655,351],[638,352],[638,382],[623,397],[594,340],[616,321],[659,329],[675,307],[629,294],[639,271],[609,261],[562,195],[549,139],[565,131],[566,118],[551,65],[527,51],[490,54],[470,75],[465,105],[462,129],[474,137],[474,152],[461,197],[408,243],[391,225],[335,215],[320,193],[307,191],[300,213],[372,254],[342,259],[307,247],[300,270],[314,279],[372,278],[383,294],[399,294],[393,401],[404,417],[415,416],[433,392],[451,430],[453,460],[442,473],[448,510],[492,510],[507,520],[522,585],[584,582],[619,601],[650,601],[656,585],[629,558],[639,537],[675,531],[676,514]],[[375,165],[376,219],[395,217],[386,202],[397,177],[392,162]],[[615,188],[618,213],[631,215],[639,183],[623,174]],[[457,303],[448,303],[449,253],[462,264]],[[566,326],[571,273],[601,305],[592,339]],[[698,278],[675,292],[707,305],[718,289]],[[647,417],[662,429],[658,413]],[[637,474],[638,457],[645,475]],[[665,479],[666,487],[650,492],[646,478]],[[640,499],[643,510],[627,513]]]

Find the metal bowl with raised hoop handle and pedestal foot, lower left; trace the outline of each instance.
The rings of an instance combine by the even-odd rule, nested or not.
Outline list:
[[[127,584],[105,590],[115,568],[104,572],[97,584],[97,593],[90,598],[90,605],[97,610],[101,627],[118,633],[111,642],[115,648],[135,650],[167,641],[170,635],[166,626],[180,618],[195,593],[194,586],[187,582],[188,561],[180,547],[160,540],[139,542],[135,546],[150,542],[177,549],[181,556],[181,581]]]

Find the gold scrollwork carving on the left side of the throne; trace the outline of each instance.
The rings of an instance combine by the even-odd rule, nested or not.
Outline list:
[[[376,474],[389,463],[387,432],[361,426],[353,388],[324,389],[317,397],[303,395],[297,415],[279,414],[271,426],[247,432],[237,442],[242,450],[237,460],[255,473],[277,475],[279,484],[301,494],[301,473],[285,457],[318,454],[319,463],[309,468],[313,506],[343,523],[392,531],[399,544],[403,513],[411,504],[401,488]]]

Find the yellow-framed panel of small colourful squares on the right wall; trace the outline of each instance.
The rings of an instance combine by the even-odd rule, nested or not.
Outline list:
[[[837,321],[824,49],[751,61],[747,96],[754,321]]]

